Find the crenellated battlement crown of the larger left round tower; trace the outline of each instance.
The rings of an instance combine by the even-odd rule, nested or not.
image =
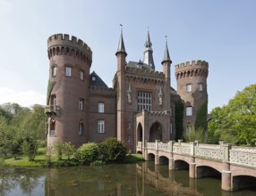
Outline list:
[[[83,53],[86,53],[92,57],[92,51],[90,47],[84,43],[81,39],[77,37],[70,37],[68,34],[55,34],[48,38],[47,40],[48,48],[53,46],[70,46],[81,50]]]

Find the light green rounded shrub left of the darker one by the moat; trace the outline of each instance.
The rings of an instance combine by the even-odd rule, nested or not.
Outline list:
[[[77,149],[75,159],[80,164],[90,165],[93,161],[98,159],[98,144],[97,143],[84,143]]]

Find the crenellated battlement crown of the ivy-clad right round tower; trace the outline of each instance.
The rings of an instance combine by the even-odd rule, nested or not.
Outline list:
[[[183,71],[187,69],[208,69],[209,64],[207,61],[186,61],[180,64],[175,65],[175,71]]]

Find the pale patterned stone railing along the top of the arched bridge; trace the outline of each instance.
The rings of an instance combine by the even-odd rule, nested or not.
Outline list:
[[[138,143],[138,147],[141,147]],[[256,167],[256,148],[232,146],[229,143],[220,142],[219,145],[204,144],[199,142],[182,143],[170,141],[169,143],[145,143],[145,149],[155,151],[167,151],[180,155],[189,155],[203,159],[215,159],[243,165],[246,167]]]

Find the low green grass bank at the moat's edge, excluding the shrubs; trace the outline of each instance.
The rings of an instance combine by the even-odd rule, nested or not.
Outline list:
[[[47,158],[47,148],[39,148],[38,154],[34,160],[29,161],[27,156],[17,157],[17,159],[1,159],[0,165],[10,166],[10,167],[67,167],[67,166],[77,166],[79,165],[74,159],[63,158],[58,160],[57,157],[53,156],[51,158],[51,163],[48,163]],[[141,154],[127,154],[124,163],[137,163],[144,161]]]

